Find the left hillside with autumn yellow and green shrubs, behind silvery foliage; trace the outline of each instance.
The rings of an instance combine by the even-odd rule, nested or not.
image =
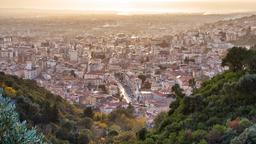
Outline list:
[[[86,106],[70,104],[35,81],[2,72],[0,88],[15,103],[20,121],[36,127],[53,144],[129,142],[136,140],[136,132],[145,124],[144,118],[133,115],[131,105],[105,115]]]

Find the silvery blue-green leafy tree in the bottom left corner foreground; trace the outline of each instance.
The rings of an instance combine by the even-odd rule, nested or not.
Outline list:
[[[35,128],[28,129],[26,122],[20,122],[15,105],[0,97],[0,144],[46,144],[44,136]]]

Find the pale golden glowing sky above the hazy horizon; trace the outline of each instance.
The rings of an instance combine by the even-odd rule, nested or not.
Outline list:
[[[0,8],[229,13],[256,11],[256,0],[0,0]]]

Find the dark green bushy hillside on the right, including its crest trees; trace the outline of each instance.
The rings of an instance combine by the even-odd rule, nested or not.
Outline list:
[[[232,48],[223,66],[230,70],[190,96],[175,85],[170,111],[157,117],[153,130],[141,130],[138,143],[256,143],[256,52]]]

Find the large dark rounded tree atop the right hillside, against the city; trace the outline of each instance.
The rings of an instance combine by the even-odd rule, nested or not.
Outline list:
[[[249,51],[242,47],[233,47],[222,60],[222,66],[228,66],[231,71],[237,72],[244,69],[244,62],[249,56]]]

